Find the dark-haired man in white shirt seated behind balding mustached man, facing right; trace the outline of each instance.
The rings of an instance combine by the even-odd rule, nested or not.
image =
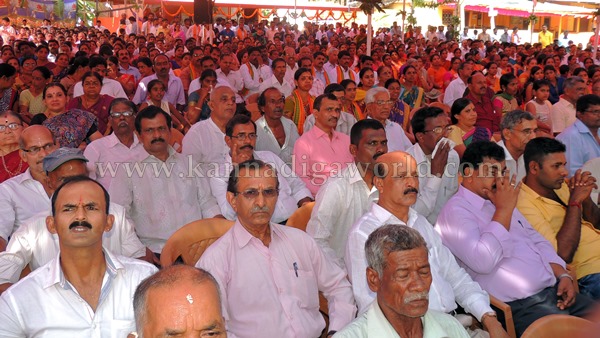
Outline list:
[[[387,153],[383,125],[373,119],[360,120],[350,132],[350,153],[354,162],[339,175],[327,179],[315,196],[315,206],[306,226],[321,250],[345,269],[344,254],[352,224],[377,200],[373,167]]]

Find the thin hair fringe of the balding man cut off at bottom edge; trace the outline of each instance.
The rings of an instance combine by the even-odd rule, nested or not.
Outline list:
[[[144,326],[146,325],[146,300],[152,289],[173,287],[182,281],[191,281],[194,284],[209,282],[217,289],[219,308],[221,308],[221,294],[217,280],[210,272],[187,265],[172,265],[164,268],[154,275],[144,279],[138,285],[133,295],[133,312],[135,315],[135,326],[139,338],[142,338]]]

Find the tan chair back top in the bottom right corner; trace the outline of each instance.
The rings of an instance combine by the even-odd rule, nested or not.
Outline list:
[[[581,337],[594,328],[589,320],[569,315],[544,316],[529,325],[521,338],[571,338]]]

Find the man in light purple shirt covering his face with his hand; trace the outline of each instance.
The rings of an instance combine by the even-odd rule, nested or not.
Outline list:
[[[586,315],[592,300],[576,294],[565,262],[515,208],[522,183],[505,173],[504,156],[493,142],[467,147],[462,186],[436,227],[471,277],[511,306],[520,336],[546,315]]]

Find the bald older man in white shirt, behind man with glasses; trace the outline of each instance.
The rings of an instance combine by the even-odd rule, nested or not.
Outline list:
[[[211,165],[222,163],[229,155],[225,143],[225,126],[236,110],[235,93],[227,86],[213,89],[208,106],[210,117],[195,123],[183,137],[182,154],[200,163],[209,172]]]

